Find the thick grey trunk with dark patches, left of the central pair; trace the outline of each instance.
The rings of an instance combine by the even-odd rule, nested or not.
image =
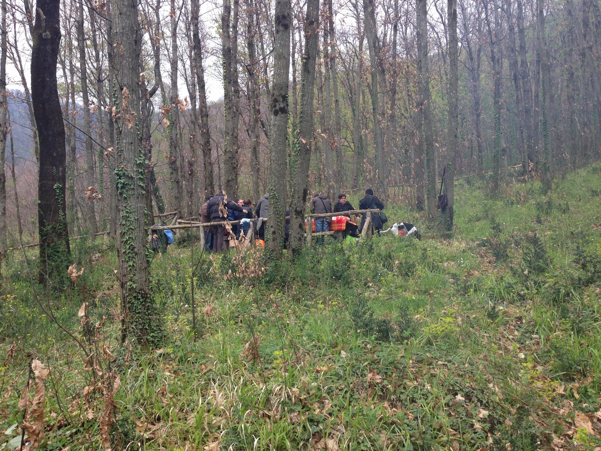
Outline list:
[[[284,241],[286,211],[286,150],[288,149],[288,79],[290,76],[290,0],[276,0],[271,111],[273,136],[269,153],[269,239],[272,257],[279,257]]]

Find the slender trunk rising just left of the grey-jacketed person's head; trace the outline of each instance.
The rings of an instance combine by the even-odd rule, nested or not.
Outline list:
[[[248,99],[249,99],[249,139],[251,145],[251,173],[252,173],[252,198],[258,199],[259,194],[259,119],[261,117],[261,92],[257,76],[258,60],[257,46],[255,44],[255,35],[257,34],[258,23],[254,20],[254,8],[256,6],[253,0],[246,0],[246,11],[248,16],[248,25],[246,34],[248,41]]]

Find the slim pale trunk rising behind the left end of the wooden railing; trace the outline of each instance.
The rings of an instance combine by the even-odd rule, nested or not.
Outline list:
[[[173,209],[181,214],[183,213],[183,190],[182,178],[180,177],[180,150],[178,149],[180,110],[178,108],[179,95],[177,91],[177,63],[177,20],[175,15],[175,0],[171,0],[171,121],[168,126],[171,149],[169,151],[169,171],[171,171]]]

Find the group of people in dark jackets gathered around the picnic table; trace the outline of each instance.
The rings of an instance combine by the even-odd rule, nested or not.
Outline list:
[[[359,210],[382,210],[383,208],[384,204],[376,197],[376,195],[374,195],[373,189],[366,189],[364,197],[359,201]],[[316,214],[332,213],[332,215],[334,215],[334,213],[341,213],[341,215],[348,216],[345,213],[355,210],[355,207],[347,200],[346,194],[344,193],[338,195],[338,201],[334,204],[333,208],[332,201],[328,195],[317,193],[311,200],[309,210],[311,213]],[[263,219],[267,218],[268,212],[269,194],[264,195],[258,200],[254,210],[252,209],[250,200],[230,200],[229,198],[226,198],[224,194],[208,195],[206,197],[206,202],[201,207],[200,222],[207,224],[210,222],[240,221],[240,224],[231,225],[231,233],[233,233],[234,238],[239,239],[240,235],[246,235],[246,233],[248,233],[248,230],[252,225],[251,221],[258,218],[258,239],[264,239],[265,224]],[[289,209],[286,212],[286,216],[290,216]],[[316,218],[316,232],[328,232],[330,230],[330,221],[331,216]],[[374,229],[377,231],[382,229],[383,224],[379,215],[373,215],[372,221]],[[364,224],[365,215],[362,215],[361,229],[363,229]],[[206,225],[204,227],[204,243],[206,250],[212,252],[222,251],[228,233],[230,232],[228,232],[225,225]],[[289,235],[290,219],[287,219],[285,222],[285,241],[287,241]],[[318,238],[317,244],[323,244],[323,236]]]

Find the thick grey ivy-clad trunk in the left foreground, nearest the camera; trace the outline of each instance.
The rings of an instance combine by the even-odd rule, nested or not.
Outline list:
[[[114,41],[112,120],[117,153],[117,259],[123,322],[121,340],[130,337],[142,345],[156,345],[162,339],[162,321],[150,295],[145,215],[145,159],[142,149],[138,43],[142,39],[136,0],[115,0],[112,26]]]

